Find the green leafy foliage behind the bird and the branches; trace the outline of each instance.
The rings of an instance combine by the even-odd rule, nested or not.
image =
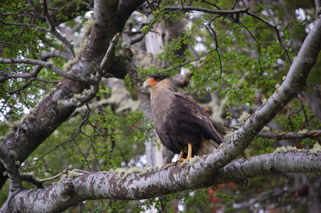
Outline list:
[[[314,9],[300,8],[304,11],[304,19],[299,19],[297,17],[299,14],[292,17],[289,14],[293,12],[288,12],[286,17],[288,20],[283,20],[286,18],[282,12],[284,9],[282,5],[261,3],[250,5],[254,15],[246,12],[239,15],[210,14],[186,11],[183,7],[178,10],[169,10],[167,6],[191,4],[191,6],[207,9],[230,10],[231,7],[244,8],[243,4],[246,2],[236,1],[235,4],[233,2],[228,4],[222,0],[192,3],[160,2],[159,7],[151,11],[152,19],[141,31],[147,34],[153,30],[156,23],[164,23],[167,31],[164,34],[171,34],[168,26],[179,20],[185,21],[186,29],[177,29],[183,31],[181,36],[169,39],[167,45],[162,48],[162,53],[158,55],[159,60],[166,61],[168,65],[166,69],[151,65],[149,69],[138,69],[138,76],[142,79],[155,73],[174,76],[181,70],[185,70],[191,78],[188,79],[189,83],[184,85],[184,92],[199,99],[209,94],[217,94],[224,105],[221,117],[227,126],[234,127],[236,121],[235,124],[232,121],[239,117],[241,111],[253,112],[261,106],[262,100],[273,94],[282,83],[283,76],[287,74],[291,65],[289,59],[293,60],[296,57],[301,41],[310,29],[311,19],[308,17],[313,17]],[[40,1],[35,3],[41,5]],[[88,2],[88,4],[91,3],[91,1]],[[74,29],[87,19],[83,4],[81,1],[55,0],[48,6],[53,8],[56,14],[57,26],[61,24],[65,29]],[[292,3],[286,1],[286,4],[290,7]],[[75,7],[71,14],[67,13],[70,7]],[[2,58],[41,59],[43,53],[67,52],[59,39],[46,30],[41,30],[41,28],[48,29],[49,25],[45,20],[36,18],[37,14],[33,13],[34,8],[27,2],[4,1],[0,8],[2,13],[7,14],[0,17],[3,23],[0,29]],[[129,20],[129,22],[139,24],[138,21]],[[12,23],[18,23],[18,25],[11,25]],[[85,30],[83,26],[75,29],[74,34],[79,35],[83,30]],[[79,45],[73,39],[69,39],[70,42],[75,46]],[[179,50],[182,50],[181,53],[178,53]],[[58,68],[63,68],[67,62],[59,57],[46,60]],[[32,64],[1,64],[0,74],[2,77],[12,73],[30,73],[33,69],[35,65]],[[319,72],[320,70],[315,68],[309,76],[308,83],[320,84]],[[127,75],[127,82],[130,82],[129,78]],[[0,135],[5,135],[14,121],[21,119],[37,105],[41,98],[50,94],[51,89],[60,80],[61,76],[54,71],[43,68],[36,78],[10,78],[4,81],[0,85]],[[132,97],[138,97],[131,83],[126,87],[132,89]],[[20,172],[44,179],[55,176],[64,169],[104,171],[131,165],[144,166],[146,164],[143,154],[144,143],[160,146],[153,135],[152,120],[140,111],[128,109],[117,111],[118,106],[114,103],[96,104],[100,100],[108,99],[113,92],[108,86],[100,86],[99,93],[85,108],[74,113],[25,162],[21,162]],[[311,105],[307,102],[302,105],[298,100],[292,100],[273,120],[278,126],[271,131],[304,131],[310,130],[309,126],[311,130],[320,129],[320,120],[311,109]],[[315,139],[302,139],[289,143],[298,148],[309,148],[315,142]],[[279,141],[256,138],[250,147],[251,154],[273,152],[280,144]],[[56,157],[57,153],[59,157]],[[52,183],[48,181],[44,185],[48,187]],[[34,187],[28,183],[24,183],[24,186]],[[233,212],[239,210],[240,206],[237,203],[245,202],[249,197],[255,197],[263,190],[284,189],[290,186],[291,182],[282,176],[271,177],[269,183],[266,183],[262,177],[258,177],[251,180],[251,187],[246,190],[231,183],[219,186],[219,189],[215,189],[216,191],[199,189],[143,201],[87,201],[88,204],[81,205],[85,206],[84,212],[143,212],[152,207],[158,212],[213,212],[216,210],[216,212],[219,212],[218,210]],[[242,195],[239,194],[240,191]],[[2,203],[7,193],[5,190],[0,193]],[[299,203],[298,209],[304,211],[302,207],[304,202],[300,201],[305,198],[300,198],[298,195],[292,199],[290,195],[282,193],[277,196],[271,195],[269,198],[264,198],[265,200],[262,198],[262,201],[257,201],[257,206],[268,209],[269,204],[280,203],[286,206],[291,203],[293,206]],[[285,199],[287,202],[283,200],[281,202],[278,198]],[[250,210],[256,211],[258,207]],[[281,210],[290,212],[291,209]],[[75,211],[75,209],[67,210],[67,212]],[[239,212],[243,211],[239,210]]]

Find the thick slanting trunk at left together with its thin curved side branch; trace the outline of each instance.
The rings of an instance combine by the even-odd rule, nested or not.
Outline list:
[[[15,165],[15,161],[23,162],[31,152],[36,149],[57,127],[60,126],[75,110],[76,107],[82,106],[82,104],[88,102],[98,92],[98,84],[102,76],[100,70],[95,70],[95,64],[99,65],[101,60],[106,56],[108,47],[113,48],[114,42],[109,44],[109,41],[117,34],[118,25],[124,25],[124,14],[128,16],[133,12],[134,8],[126,7],[126,2],[122,2],[121,7],[122,14],[117,14],[117,9],[108,7],[108,5],[102,4],[103,1],[95,1],[95,11],[97,12],[97,24],[93,25],[89,35],[89,42],[86,44],[86,51],[82,51],[77,60],[71,66],[71,68],[64,72],[54,65],[31,59],[0,59],[1,63],[30,63],[38,64],[36,72],[39,72],[42,66],[47,66],[50,69],[55,70],[58,74],[61,74],[65,78],[61,80],[54,91],[45,96],[34,109],[30,110],[30,114],[25,116],[19,124],[12,126],[10,131],[1,138],[1,143],[4,152],[10,153],[12,162],[9,162],[3,156],[3,163],[0,165],[0,184],[4,184],[7,176],[4,176],[4,171],[8,172],[10,181],[16,183],[18,178],[15,178],[16,171],[11,168],[18,167]],[[111,1],[108,1],[111,4]],[[118,1],[114,1],[118,4]],[[134,1],[134,4],[141,4],[140,1]],[[124,5],[125,4],[125,5]],[[111,18],[113,14],[118,15],[118,19]],[[105,19],[99,19],[99,14],[104,14]],[[108,15],[106,15],[108,14]],[[96,17],[96,14],[94,14]],[[47,17],[48,18],[48,17]],[[52,18],[50,18],[52,19]],[[106,21],[102,23],[101,21]],[[110,21],[113,20],[113,21]],[[123,21],[123,23],[121,22]],[[101,26],[104,25],[104,27]],[[122,27],[121,27],[122,28]],[[108,56],[108,55],[107,55]],[[110,58],[106,60],[109,62],[114,57],[110,54]],[[105,66],[105,72],[109,72],[112,76],[118,76],[123,78],[126,72],[119,72],[119,70],[111,69],[110,65]],[[36,68],[35,68],[36,69]],[[36,74],[35,72],[35,74]],[[88,78],[91,74],[96,75],[95,78]],[[81,84],[78,82],[82,82]],[[88,88],[90,88],[88,90]],[[85,90],[86,89],[86,90]],[[85,91],[85,92],[84,92]],[[77,95],[76,95],[77,94]],[[9,165],[9,163],[11,165]],[[8,169],[9,168],[9,169]],[[11,184],[10,190],[18,190],[21,188],[21,184]],[[9,197],[10,200],[10,197]]]

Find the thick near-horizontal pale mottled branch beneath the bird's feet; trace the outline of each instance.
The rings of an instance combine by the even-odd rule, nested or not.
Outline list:
[[[33,206],[35,212],[61,212],[84,200],[140,200],[169,193],[208,187],[247,177],[289,172],[320,172],[321,152],[269,153],[254,156],[250,161],[236,160],[218,173],[206,169],[215,153],[197,162],[165,169],[141,168],[131,172],[93,172],[67,177],[57,184],[38,190],[24,190],[11,202],[14,211],[23,212]],[[214,175],[213,175],[214,174]],[[202,178],[198,178],[202,176]],[[47,195],[47,196],[46,196]],[[41,200],[41,202],[39,202]],[[59,204],[59,206],[58,206]],[[4,212],[8,207],[1,209]]]

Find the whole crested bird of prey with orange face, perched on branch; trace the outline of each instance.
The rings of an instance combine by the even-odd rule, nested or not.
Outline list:
[[[190,97],[175,92],[169,75],[151,76],[143,86],[151,93],[152,115],[160,141],[179,154],[177,162],[181,167],[194,155],[214,152],[223,142],[205,111]]]

